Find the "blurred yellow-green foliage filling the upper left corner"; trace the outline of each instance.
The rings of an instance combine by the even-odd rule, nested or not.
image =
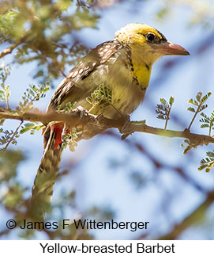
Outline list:
[[[3,1],[0,2],[0,42],[9,43],[9,50],[16,48],[14,62],[36,62],[34,77],[44,83],[47,78],[51,81],[62,75],[66,64],[72,66],[87,51],[84,46],[77,46],[73,31],[96,28],[98,19],[99,15],[84,2]]]

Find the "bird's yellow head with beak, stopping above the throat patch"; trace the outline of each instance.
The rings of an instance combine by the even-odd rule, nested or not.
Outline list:
[[[128,24],[118,30],[115,40],[128,44],[133,55],[136,53],[149,66],[163,55],[190,55],[178,44],[167,41],[157,29],[141,23]]]

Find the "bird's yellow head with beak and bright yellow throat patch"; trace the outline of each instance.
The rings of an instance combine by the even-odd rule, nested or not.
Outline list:
[[[133,75],[142,88],[148,86],[152,64],[163,55],[190,55],[178,44],[167,41],[158,30],[141,23],[128,24],[115,33],[115,40],[131,48]]]

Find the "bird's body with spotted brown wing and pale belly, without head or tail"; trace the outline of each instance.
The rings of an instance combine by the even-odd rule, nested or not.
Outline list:
[[[81,59],[58,86],[51,98],[48,111],[68,101],[90,109],[86,98],[100,85],[112,90],[112,105],[102,109],[105,117],[118,117],[119,112],[130,114],[143,100],[145,90],[133,76],[133,63],[130,47],[116,40],[99,44],[92,52]],[[93,113],[93,112],[92,112]],[[94,110],[98,114],[99,109]]]

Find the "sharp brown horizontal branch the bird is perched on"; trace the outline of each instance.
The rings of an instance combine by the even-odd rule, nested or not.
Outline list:
[[[124,124],[126,124],[126,118],[120,117],[117,120],[108,119],[103,117],[102,115],[95,116],[87,113],[86,111],[82,111],[79,109],[73,110],[72,113],[36,113],[36,112],[28,112],[28,113],[17,113],[13,111],[8,111],[7,109],[0,109],[0,120],[2,119],[13,119],[13,120],[28,120],[28,121],[36,121],[41,122],[44,125],[47,125],[50,122],[57,121],[63,122],[69,125],[69,128],[75,128],[78,125],[84,125],[84,129],[91,130],[91,134],[97,134],[100,131],[107,128],[118,128],[122,129],[123,134],[129,134],[133,132],[145,132],[158,136],[166,136],[166,137],[177,137],[177,138],[186,138],[190,139],[191,142],[197,145],[203,145],[208,143],[214,143],[214,138],[211,136],[200,135],[196,133],[189,132],[185,129],[183,132],[173,131],[173,130],[164,130],[163,128],[155,128],[152,126],[148,126],[146,124],[136,124],[129,123],[124,128]],[[86,138],[84,136],[82,138]]]

